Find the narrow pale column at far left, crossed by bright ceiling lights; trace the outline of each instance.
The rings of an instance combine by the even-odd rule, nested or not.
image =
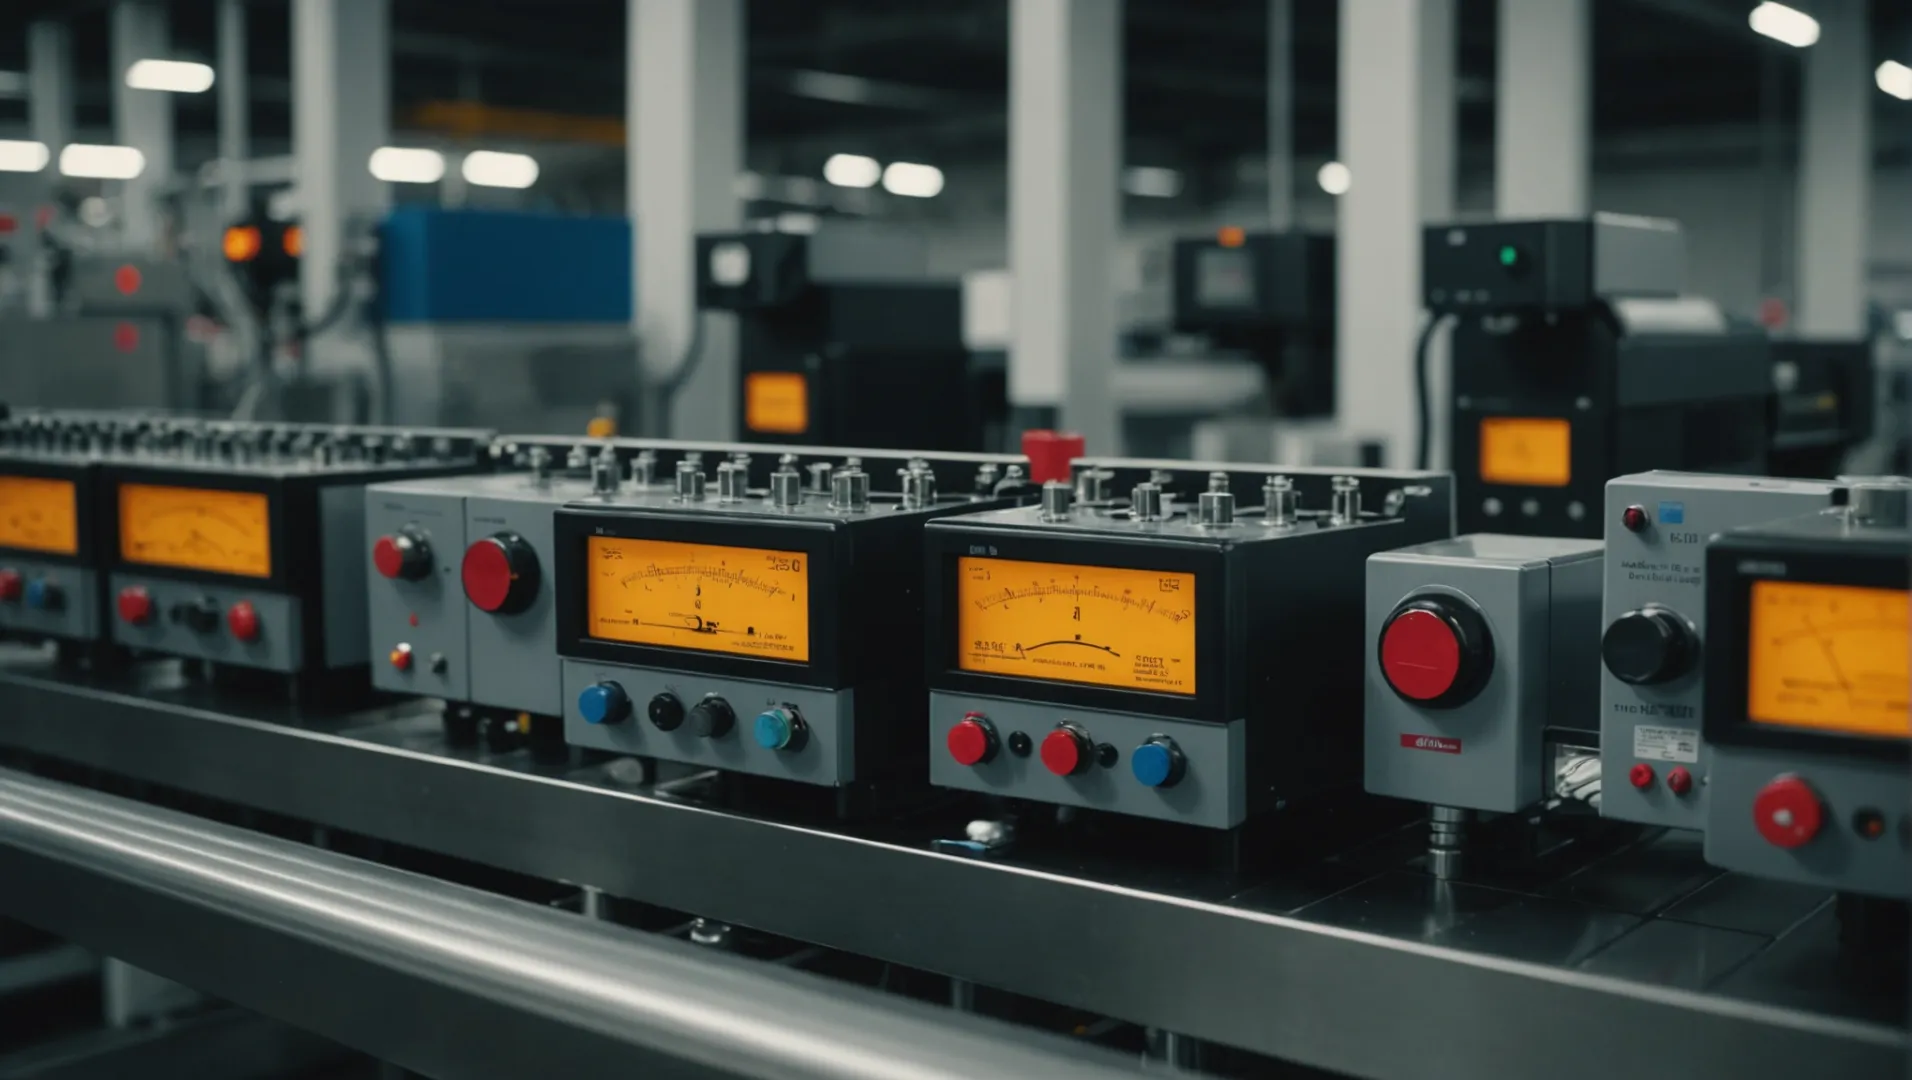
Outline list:
[[[113,141],[145,155],[145,168],[124,182],[122,231],[128,247],[159,243],[159,193],[172,182],[172,94],[126,86],[140,59],[172,59],[172,31],[161,4],[120,0],[113,6]]]

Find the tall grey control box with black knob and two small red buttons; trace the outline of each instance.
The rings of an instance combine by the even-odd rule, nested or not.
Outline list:
[[[1658,606],[1677,616],[1706,648],[1706,539],[1711,533],[1832,503],[1836,486],[1811,480],[1640,472],[1606,484],[1606,589],[1602,633],[1625,612]],[[1627,507],[1646,524],[1631,531]],[[1694,652],[1698,652],[1694,650]],[[1629,684],[1600,669],[1600,814],[1654,826],[1706,826],[1707,749],[1700,738],[1700,656],[1665,682]],[[1644,763],[1652,780],[1629,782]],[[1663,778],[1684,767],[1700,782],[1684,795]]]

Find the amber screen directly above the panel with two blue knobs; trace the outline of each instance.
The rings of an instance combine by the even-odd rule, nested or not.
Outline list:
[[[811,577],[801,551],[589,537],[585,573],[595,638],[811,658]]]

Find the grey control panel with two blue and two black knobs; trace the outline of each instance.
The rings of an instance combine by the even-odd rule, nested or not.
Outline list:
[[[616,682],[631,698],[631,717],[616,724],[585,723],[577,711],[577,694],[597,682]],[[658,730],[644,717],[644,705],[656,694],[675,694],[690,709],[709,694],[717,694],[736,711],[736,724],[723,738],[700,738],[683,724],[677,730]],[[690,671],[658,671],[621,663],[589,659],[564,661],[564,742],[587,749],[608,749],[677,761],[730,772],[774,776],[839,788],[855,776],[855,690],[818,690],[815,686],[782,686],[753,679],[723,679]],[[765,749],[751,738],[751,721],[772,705],[793,705],[803,717],[807,736],[793,749]]]

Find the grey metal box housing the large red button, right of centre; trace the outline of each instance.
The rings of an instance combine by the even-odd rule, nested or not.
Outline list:
[[[1476,533],[1369,556],[1363,765],[1371,793],[1514,812],[1551,791],[1547,728],[1595,723],[1600,551],[1589,539]],[[1388,616],[1419,596],[1455,596],[1488,625],[1491,667],[1459,705],[1401,698],[1380,669]],[[1589,675],[1575,680],[1575,665]]]

